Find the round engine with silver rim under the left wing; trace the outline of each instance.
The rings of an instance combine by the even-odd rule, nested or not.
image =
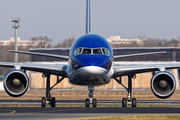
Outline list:
[[[29,78],[22,70],[11,70],[5,76],[4,89],[12,97],[22,96],[28,86]]]

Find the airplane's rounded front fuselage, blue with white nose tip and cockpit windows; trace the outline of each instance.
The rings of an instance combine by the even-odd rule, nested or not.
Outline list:
[[[71,46],[70,64],[73,72],[79,77],[78,80],[96,81],[93,82],[96,85],[108,83],[110,80],[108,72],[111,70],[112,59],[111,45],[105,38],[96,34],[83,35]],[[76,84],[78,80],[70,81]]]

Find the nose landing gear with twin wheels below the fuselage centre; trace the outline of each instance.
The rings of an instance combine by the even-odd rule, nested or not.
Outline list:
[[[85,100],[85,106],[89,107],[90,104],[92,104],[93,107],[97,107],[97,100],[96,99],[92,99],[95,95],[93,93],[94,91],[94,85],[89,85],[88,86],[88,90],[89,90],[89,94],[88,97],[90,97],[90,99],[86,99]]]

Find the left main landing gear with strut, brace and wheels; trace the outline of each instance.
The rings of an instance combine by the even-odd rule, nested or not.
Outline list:
[[[46,107],[46,105],[51,105],[51,107],[56,107],[56,99],[55,97],[51,98],[51,94],[50,91],[51,89],[53,89],[54,86],[56,86],[58,83],[60,83],[65,77],[62,77],[61,79],[58,79],[57,76],[57,82],[56,84],[54,84],[52,87],[50,87],[50,76],[51,74],[47,74],[43,77],[47,77],[47,81],[46,81],[46,98],[42,97],[41,99],[41,107]]]

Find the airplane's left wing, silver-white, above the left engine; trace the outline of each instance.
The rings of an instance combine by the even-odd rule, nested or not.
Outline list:
[[[50,73],[67,77],[66,70],[68,65],[60,64],[34,64],[34,63],[13,63],[13,62],[0,62],[1,67],[11,67],[15,69],[24,69],[37,71],[42,73]]]

